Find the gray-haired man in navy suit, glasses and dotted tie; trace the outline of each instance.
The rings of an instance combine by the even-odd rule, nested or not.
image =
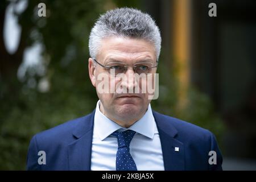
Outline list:
[[[89,38],[89,76],[100,98],[96,109],[36,134],[27,169],[221,170],[210,131],[151,109],[152,97],[143,87],[155,83],[148,78],[156,73],[160,44],[159,28],[148,14],[122,8],[101,15]]]

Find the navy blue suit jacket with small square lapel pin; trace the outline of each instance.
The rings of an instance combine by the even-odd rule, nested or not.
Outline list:
[[[36,134],[27,155],[28,170],[90,170],[95,110]],[[210,131],[157,113],[153,115],[162,144],[165,170],[221,170],[222,156]],[[179,147],[179,151],[175,151]],[[39,164],[39,151],[46,152],[46,164]],[[209,164],[209,151],[217,154]]]

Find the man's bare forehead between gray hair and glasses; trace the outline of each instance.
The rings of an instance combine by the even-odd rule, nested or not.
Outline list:
[[[130,60],[156,60],[154,44],[143,39],[110,37],[102,39],[97,58],[102,61],[108,59]]]

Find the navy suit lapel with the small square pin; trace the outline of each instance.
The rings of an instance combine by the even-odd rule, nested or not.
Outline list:
[[[158,127],[159,137],[162,145],[164,169],[166,171],[184,170],[184,147],[183,143],[175,139],[177,130],[172,126],[170,118],[152,111],[156,126]],[[176,150],[175,150],[176,147]]]

